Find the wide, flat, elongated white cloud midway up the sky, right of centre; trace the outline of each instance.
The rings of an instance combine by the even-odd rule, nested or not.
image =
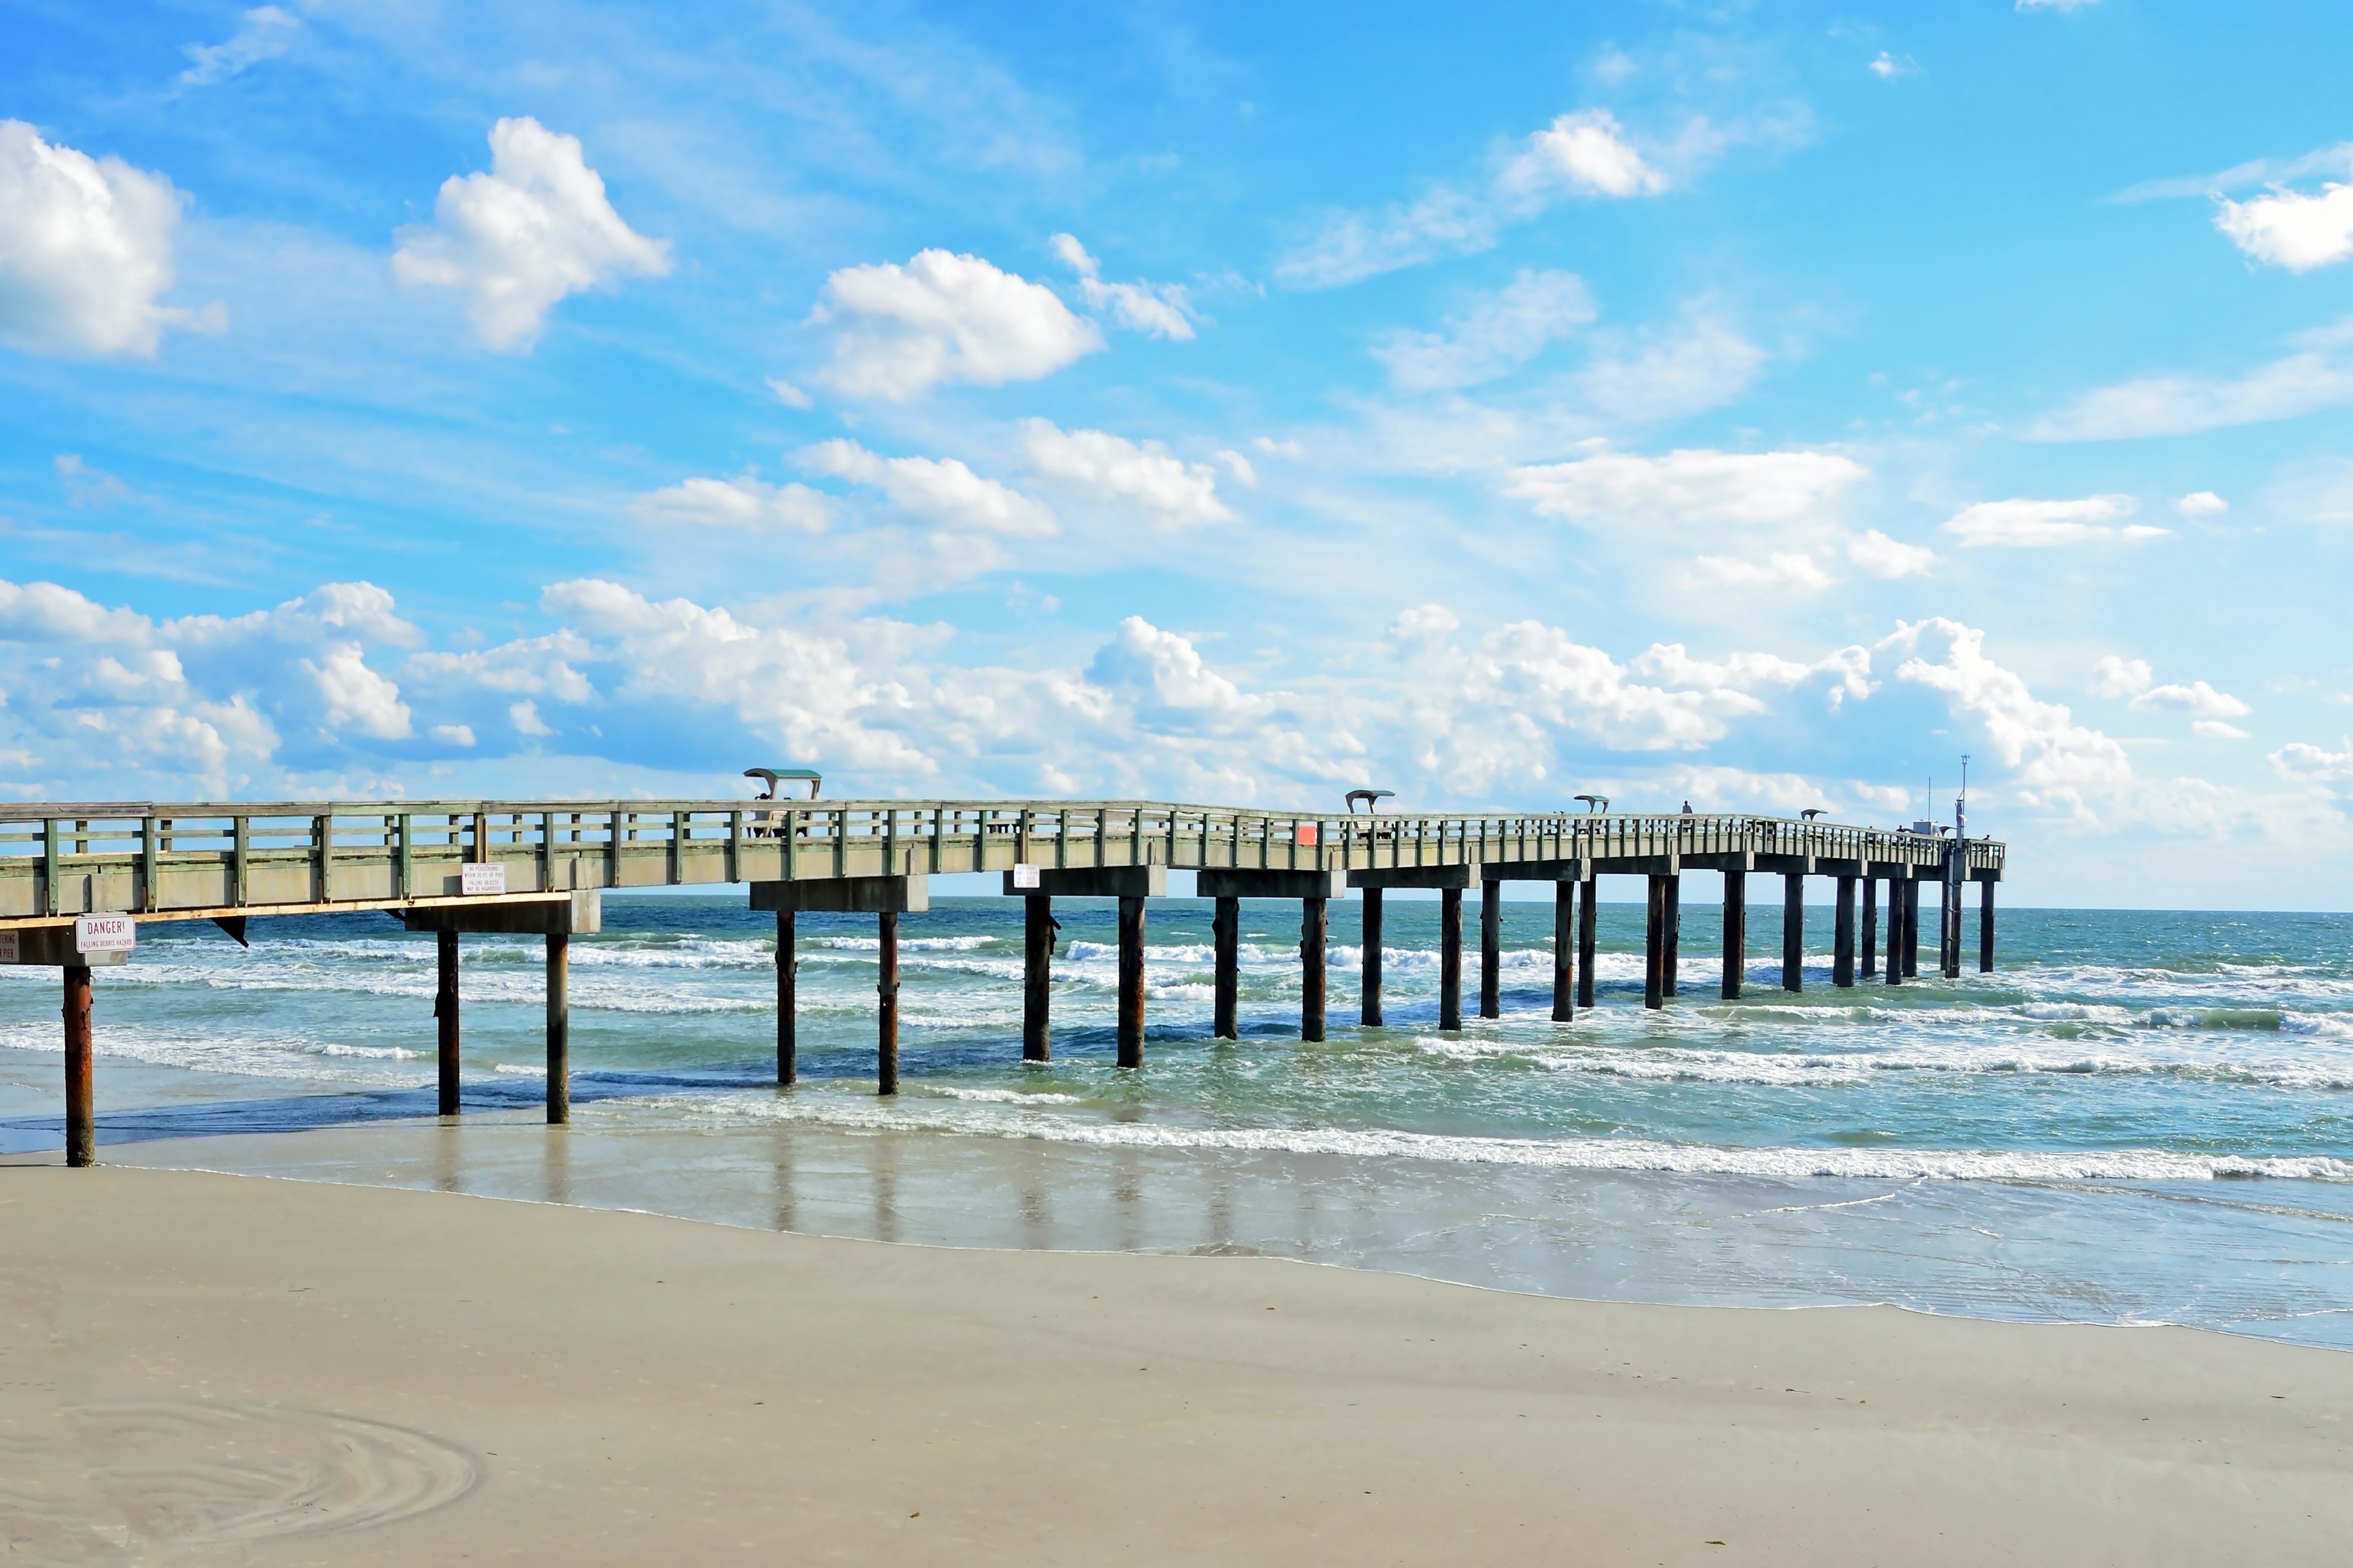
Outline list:
[[[1513,468],[1506,494],[1577,522],[1777,524],[1814,515],[1866,475],[1828,451],[1602,451]]]

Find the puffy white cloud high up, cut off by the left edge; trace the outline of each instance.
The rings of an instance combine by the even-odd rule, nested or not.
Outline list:
[[[181,195],[162,174],[89,158],[0,120],[0,341],[33,353],[151,355],[169,327],[219,331],[219,306],[172,287]]]

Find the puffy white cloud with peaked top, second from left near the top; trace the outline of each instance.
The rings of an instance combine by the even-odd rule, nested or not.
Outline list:
[[[475,336],[501,350],[527,350],[567,294],[671,270],[671,242],[621,221],[579,139],[529,115],[499,120],[489,172],[452,174],[433,221],[398,237],[393,275],[466,294]]]

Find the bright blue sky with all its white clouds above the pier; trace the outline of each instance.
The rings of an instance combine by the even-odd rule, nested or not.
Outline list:
[[[0,792],[2353,903],[2341,5],[0,5]]]

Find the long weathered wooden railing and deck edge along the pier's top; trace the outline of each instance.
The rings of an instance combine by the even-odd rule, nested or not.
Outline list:
[[[0,806],[0,924],[398,907],[1014,865],[1934,875],[1955,844],[1774,816],[1306,813],[1165,802],[89,802]],[[1960,846],[2000,879],[2002,844]],[[468,870],[485,867],[485,870]]]

